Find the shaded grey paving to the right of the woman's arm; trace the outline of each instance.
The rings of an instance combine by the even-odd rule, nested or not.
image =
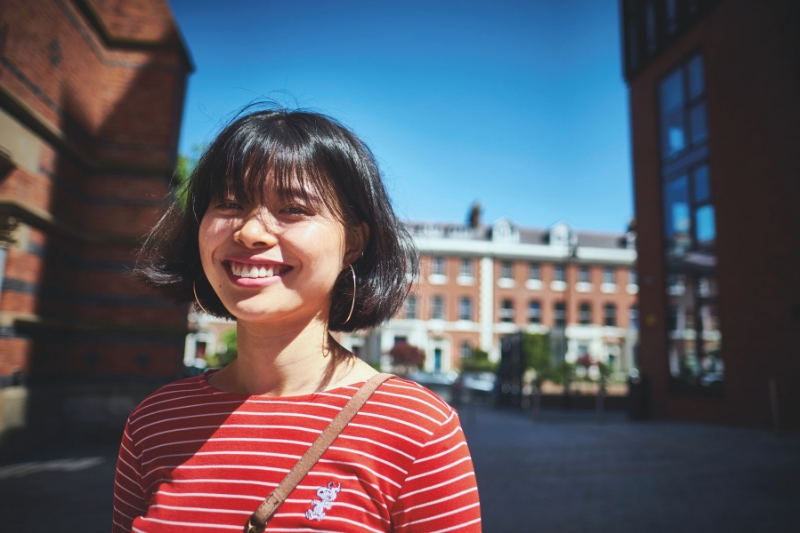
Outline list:
[[[593,411],[460,410],[484,531],[800,531],[800,436]]]

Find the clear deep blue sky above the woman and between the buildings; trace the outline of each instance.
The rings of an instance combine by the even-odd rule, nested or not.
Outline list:
[[[406,219],[632,217],[616,0],[170,4],[196,65],[182,152],[268,98],[359,134]]]

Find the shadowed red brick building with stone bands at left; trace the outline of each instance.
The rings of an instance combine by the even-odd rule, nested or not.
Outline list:
[[[164,0],[0,3],[0,385],[180,374],[186,309],[127,272],[192,68]]]

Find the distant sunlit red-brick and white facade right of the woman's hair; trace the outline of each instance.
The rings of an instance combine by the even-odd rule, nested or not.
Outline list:
[[[507,219],[408,227],[421,253],[420,277],[398,316],[344,338],[362,358],[378,362],[407,342],[425,352],[425,370],[448,372],[475,349],[497,360],[500,338],[526,331],[560,337],[556,356],[569,362],[587,355],[618,372],[634,363],[632,233],[578,232],[565,222],[534,230]]]

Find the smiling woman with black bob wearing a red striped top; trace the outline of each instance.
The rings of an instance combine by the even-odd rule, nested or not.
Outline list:
[[[237,321],[238,358],[145,399],[123,435],[113,531],[242,531],[376,372],[330,335],[390,318],[417,257],[375,159],[314,113],[227,126],[143,249],[140,276]],[[383,383],[289,494],[267,531],[480,531],[458,417]]]

